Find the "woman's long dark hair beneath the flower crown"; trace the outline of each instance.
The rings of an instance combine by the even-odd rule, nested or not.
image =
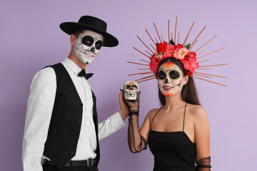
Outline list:
[[[183,76],[186,76],[186,69],[183,68],[183,64],[181,63],[181,61],[176,58],[163,59],[163,61],[161,61],[158,65],[157,72],[158,72],[158,69],[160,68],[160,66],[166,62],[172,62],[172,63],[176,64],[176,66],[181,68],[181,70],[183,72]],[[165,105],[165,103],[166,103],[165,96],[161,93],[160,89],[158,89],[158,97],[161,102],[161,105]],[[197,95],[197,91],[196,91],[196,84],[193,81],[193,77],[189,76],[188,82],[186,83],[186,85],[183,86],[182,91],[181,91],[181,98],[186,103],[191,103],[193,105],[200,105],[200,101],[198,99],[198,95]]]

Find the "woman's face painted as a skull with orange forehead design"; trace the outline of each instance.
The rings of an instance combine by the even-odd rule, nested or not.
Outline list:
[[[165,96],[181,92],[185,83],[181,68],[172,62],[163,63],[158,70],[158,86]]]

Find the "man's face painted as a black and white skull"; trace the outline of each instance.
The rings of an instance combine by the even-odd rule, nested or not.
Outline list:
[[[85,30],[75,41],[74,51],[82,63],[89,65],[99,54],[104,36],[94,31]]]

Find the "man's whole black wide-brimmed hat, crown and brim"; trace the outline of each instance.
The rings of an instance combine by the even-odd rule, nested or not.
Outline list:
[[[104,45],[106,47],[114,47],[119,44],[116,37],[107,33],[106,22],[98,19],[94,16],[81,16],[78,23],[76,22],[64,22],[60,24],[60,28],[65,33],[71,35],[76,29],[91,30],[104,36]]]

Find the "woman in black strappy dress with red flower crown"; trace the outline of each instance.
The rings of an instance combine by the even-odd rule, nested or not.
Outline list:
[[[128,142],[131,152],[148,144],[154,156],[153,171],[210,170],[210,137],[206,111],[200,106],[193,72],[196,53],[189,46],[158,43],[149,63],[158,82],[161,108],[148,112],[138,129],[139,96],[124,100],[129,106]]]

